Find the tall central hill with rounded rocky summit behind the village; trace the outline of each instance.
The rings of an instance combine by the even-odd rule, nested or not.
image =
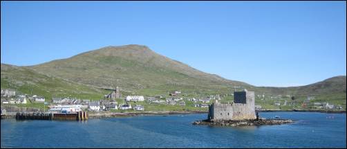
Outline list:
[[[225,89],[232,86],[251,86],[198,71],[187,64],[159,55],[147,46],[138,45],[107,46],[29,68],[73,82],[95,87],[119,86],[128,91],[167,90],[170,87]]]

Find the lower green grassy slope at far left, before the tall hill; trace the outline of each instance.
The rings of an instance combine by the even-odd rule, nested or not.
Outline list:
[[[53,76],[46,76],[26,67],[1,64],[1,89],[16,89],[21,94],[37,94],[51,99],[52,96],[77,98],[100,98],[103,91],[68,82]]]

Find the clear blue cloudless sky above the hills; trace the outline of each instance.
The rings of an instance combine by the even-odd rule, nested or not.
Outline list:
[[[346,76],[346,1],[1,1],[1,63],[142,44],[256,86]]]

